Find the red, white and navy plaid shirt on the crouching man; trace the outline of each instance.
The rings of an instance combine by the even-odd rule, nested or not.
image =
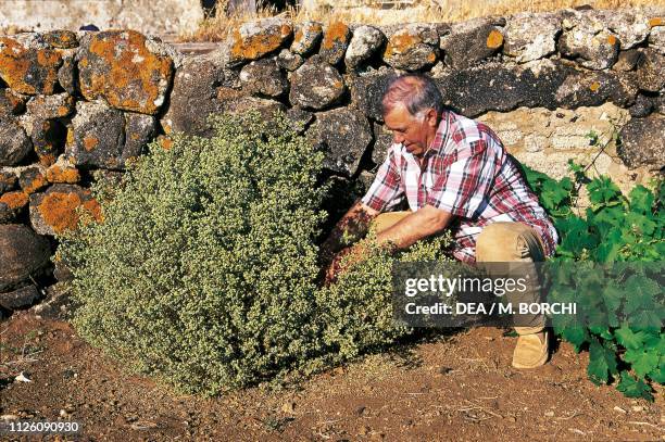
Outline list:
[[[414,212],[429,204],[455,216],[450,228],[457,260],[475,262],[478,233],[495,222],[524,223],[539,233],[548,256],[556,249],[552,222],[499,137],[454,112],[443,112],[422,166],[403,144],[392,144],[362,202],[387,212],[404,198]]]

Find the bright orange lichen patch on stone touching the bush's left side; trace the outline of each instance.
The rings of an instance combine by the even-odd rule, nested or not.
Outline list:
[[[95,199],[81,201],[77,193],[51,192],[45,194],[38,206],[43,222],[53,228],[55,233],[73,230],[77,227],[80,214],[78,207],[95,220],[101,222],[101,207]]]

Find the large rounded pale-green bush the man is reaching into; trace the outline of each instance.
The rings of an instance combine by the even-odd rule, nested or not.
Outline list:
[[[323,154],[283,116],[260,121],[226,115],[210,140],[150,144],[122,186],[93,188],[103,223],[61,238],[80,337],[185,392],[327,368],[392,342],[406,332],[391,324],[392,260],[437,255],[434,244],[375,255],[321,289]]]

